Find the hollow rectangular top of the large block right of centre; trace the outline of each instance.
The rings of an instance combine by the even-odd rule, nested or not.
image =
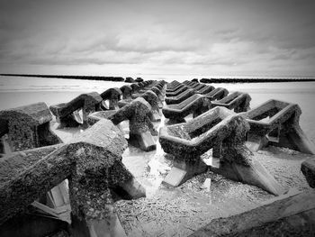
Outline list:
[[[215,107],[187,123],[162,127],[159,141],[166,153],[183,159],[198,159],[217,141],[223,141],[232,134],[234,129],[245,134],[249,126],[240,115],[223,107]]]

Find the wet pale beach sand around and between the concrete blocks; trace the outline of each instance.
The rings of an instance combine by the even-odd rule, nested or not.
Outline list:
[[[311,84],[311,87],[314,88],[314,85]],[[121,86],[119,84],[119,87]],[[251,107],[260,105],[271,98],[299,104],[302,107],[302,129],[311,141],[315,141],[313,126],[315,93],[311,93],[307,85],[302,92],[309,93],[302,93],[301,90],[298,92],[280,90],[279,92],[278,88],[273,89],[270,86],[269,89],[264,87],[259,89],[257,85],[254,88],[248,85],[215,85],[214,87],[227,87],[230,91],[248,92],[252,96]],[[98,91],[102,92],[105,89],[104,86]],[[0,109],[40,101],[46,102],[47,105],[54,105],[67,102],[84,92],[91,91],[80,89],[77,91],[1,92]],[[164,121],[155,123],[157,130],[163,125]],[[52,130],[64,142],[83,132],[80,128],[56,130],[57,126],[55,121],[51,123]],[[124,122],[122,127],[128,137],[128,123]],[[157,137],[155,139],[157,140]],[[292,187],[291,192],[310,188],[300,169],[302,161],[313,156],[275,147],[260,150],[255,155],[279,183],[284,187]],[[203,158],[207,159],[210,156],[211,151],[205,153]],[[242,213],[275,198],[258,187],[231,181],[211,171],[192,178],[180,187],[164,187],[160,183],[166,177],[172,162],[166,159],[166,154],[158,142],[157,150],[150,152],[143,152],[129,146],[122,155],[122,161],[147,190],[146,198],[121,200],[115,204],[121,224],[129,236],[187,236],[206,223],[210,223],[213,218]],[[206,178],[211,178],[209,189],[202,187]]]

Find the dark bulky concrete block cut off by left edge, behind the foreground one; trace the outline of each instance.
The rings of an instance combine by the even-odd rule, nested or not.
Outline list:
[[[49,108],[43,102],[0,111],[1,137],[8,134],[13,151],[60,143],[58,136],[50,131],[51,120]]]

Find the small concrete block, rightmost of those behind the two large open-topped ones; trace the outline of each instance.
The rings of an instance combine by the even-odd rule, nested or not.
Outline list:
[[[247,93],[233,92],[220,100],[212,101],[212,106],[223,106],[236,113],[247,112],[251,97]]]

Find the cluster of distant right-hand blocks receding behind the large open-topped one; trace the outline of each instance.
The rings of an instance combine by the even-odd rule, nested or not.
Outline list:
[[[196,117],[216,106],[226,107],[236,113],[246,112],[251,100],[247,93],[229,94],[225,88],[214,88],[196,82],[174,81],[171,85],[173,86],[166,89],[166,105],[162,110],[170,120],[169,123],[184,123],[184,117],[187,115],[193,114],[193,117]]]

